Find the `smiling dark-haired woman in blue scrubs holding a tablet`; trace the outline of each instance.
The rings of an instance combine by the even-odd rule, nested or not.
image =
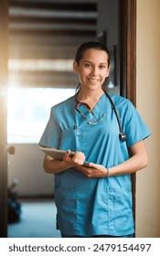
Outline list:
[[[45,172],[55,175],[58,229],[62,237],[132,237],[131,174],[148,163],[144,139],[150,131],[131,101],[109,93],[126,140],[120,138],[102,87],[110,55],[101,43],[80,45],[73,69],[80,79],[77,93],[51,108],[39,142],[66,151],[63,161],[44,158]]]

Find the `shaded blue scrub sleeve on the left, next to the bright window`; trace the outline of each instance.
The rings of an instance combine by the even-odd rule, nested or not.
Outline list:
[[[54,110],[52,108],[48,124],[45,128],[44,133],[42,134],[42,137],[39,141],[39,145],[59,148],[60,134],[61,132],[59,124],[56,122],[54,118]]]

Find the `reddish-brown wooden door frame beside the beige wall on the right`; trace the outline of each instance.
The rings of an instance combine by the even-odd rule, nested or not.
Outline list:
[[[121,94],[136,107],[136,0],[121,0],[121,16]],[[135,221],[135,173],[132,174],[132,188]]]

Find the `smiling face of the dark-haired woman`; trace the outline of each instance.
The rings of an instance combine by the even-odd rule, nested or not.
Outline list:
[[[79,65],[74,61],[73,69],[76,74],[79,74],[81,87],[89,90],[99,89],[109,75],[108,55],[103,50],[87,49]]]

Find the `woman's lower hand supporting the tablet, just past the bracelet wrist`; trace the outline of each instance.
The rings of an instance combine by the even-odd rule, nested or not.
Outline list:
[[[106,177],[108,175],[107,169],[103,165],[93,163],[89,163],[87,167],[77,167],[77,169],[88,177]]]

